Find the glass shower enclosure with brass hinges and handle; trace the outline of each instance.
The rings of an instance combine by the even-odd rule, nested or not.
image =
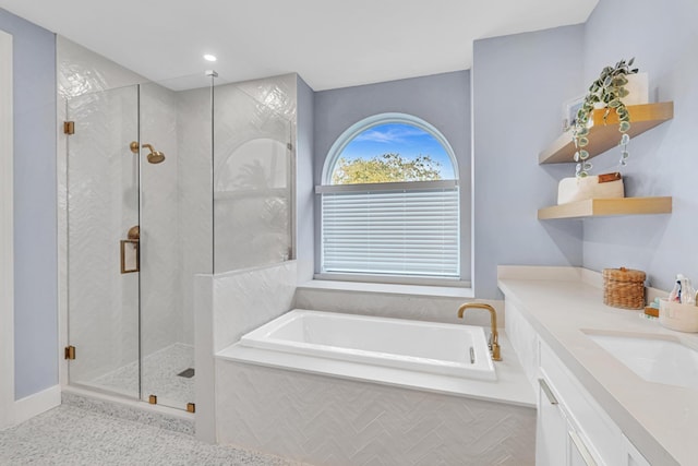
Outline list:
[[[193,277],[291,259],[293,122],[203,74],[65,113],[69,383],[193,411]]]

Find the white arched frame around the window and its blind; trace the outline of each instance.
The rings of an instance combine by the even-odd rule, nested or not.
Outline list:
[[[389,123],[405,123],[409,126],[417,127],[429,134],[431,134],[445,150],[450,164],[453,166],[454,178],[448,180],[437,180],[437,181],[404,181],[404,182],[388,182],[388,183],[365,183],[365,184],[333,184],[332,176],[335,170],[335,166],[338,163],[344,150],[346,146],[359,134],[364,131],[370,130],[371,128],[378,127],[382,124]],[[455,193],[455,199],[457,202],[457,206],[455,208],[457,215],[457,240],[455,241],[455,252],[453,253],[453,258],[456,261],[456,270],[454,273],[449,273],[446,275],[413,275],[413,274],[374,274],[372,272],[351,272],[351,273],[337,273],[337,272],[328,272],[325,270],[325,249],[324,249],[324,219],[323,219],[323,211],[324,207],[321,207],[321,220],[320,220],[320,271],[315,275],[315,278],[321,279],[345,279],[345,280],[361,280],[361,282],[380,282],[380,283],[406,283],[406,284],[425,284],[425,285],[454,285],[455,282],[460,280],[460,241],[458,240],[460,236],[460,194],[458,191],[458,162],[456,155],[454,153],[453,147],[446,140],[446,138],[432,124],[422,120],[421,118],[414,117],[412,115],[407,113],[378,113],[363,120],[358,121],[352,124],[346,131],[341,133],[339,138],[332,145],[330,150],[327,153],[327,157],[325,158],[325,163],[323,165],[322,171],[322,184],[315,187],[315,193],[318,195],[325,194],[337,194],[337,193],[380,193],[380,192],[410,192],[410,191],[425,191],[425,190],[444,190]],[[322,204],[322,203],[321,203]]]

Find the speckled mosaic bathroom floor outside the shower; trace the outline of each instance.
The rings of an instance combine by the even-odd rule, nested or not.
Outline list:
[[[183,433],[61,405],[0,431],[0,465],[301,466],[301,463],[209,445]]]

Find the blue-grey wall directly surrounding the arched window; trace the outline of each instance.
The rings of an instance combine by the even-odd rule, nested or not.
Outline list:
[[[470,72],[345,87],[315,93],[315,184],[333,143],[353,123],[384,112],[413,115],[433,124],[450,143],[461,192],[461,277],[470,280]],[[320,211],[316,211],[320,212]],[[315,222],[320,222],[318,218]],[[318,227],[317,230],[320,231]],[[316,267],[320,258],[316,244]]]

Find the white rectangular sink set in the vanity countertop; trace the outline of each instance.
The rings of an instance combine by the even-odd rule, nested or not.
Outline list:
[[[648,382],[698,390],[698,351],[676,340],[587,333],[594,343]]]

